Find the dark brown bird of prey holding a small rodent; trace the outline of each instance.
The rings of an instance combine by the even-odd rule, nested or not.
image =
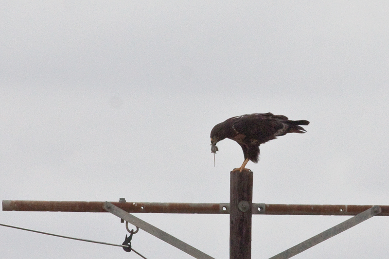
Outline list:
[[[232,117],[215,125],[211,131],[211,152],[213,159],[219,149],[216,143],[225,138],[235,140],[243,150],[245,161],[233,171],[242,172],[249,160],[258,163],[259,145],[286,135],[287,133],[305,133],[299,125],[308,125],[309,121],[290,121],[286,116],[268,113],[254,113]],[[247,169],[246,169],[247,170]]]

